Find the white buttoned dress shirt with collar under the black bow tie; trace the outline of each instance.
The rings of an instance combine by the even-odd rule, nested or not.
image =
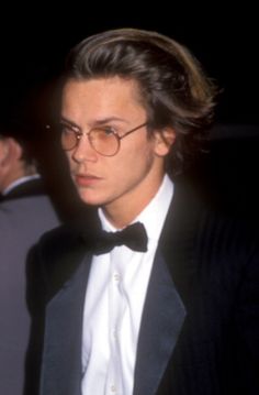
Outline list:
[[[83,310],[83,395],[133,394],[143,306],[172,193],[166,175],[154,199],[134,220],[146,228],[146,253],[122,245],[92,259]],[[104,230],[116,231],[101,209],[99,216]]]

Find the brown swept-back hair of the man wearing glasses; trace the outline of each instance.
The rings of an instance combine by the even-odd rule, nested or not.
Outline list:
[[[150,132],[174,130],[167,169],[181,173],[212,124],[214,83],[184,45],[137,29],[111,30],[81,41],[68,54],[63,81],[114,76],[138,83]]]

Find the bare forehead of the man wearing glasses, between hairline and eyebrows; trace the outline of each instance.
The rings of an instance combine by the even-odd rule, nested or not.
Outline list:
[[[110,117],[145,112],[137,81],[120,77],[69,79],[63,89],[61,111],[66,116]]]

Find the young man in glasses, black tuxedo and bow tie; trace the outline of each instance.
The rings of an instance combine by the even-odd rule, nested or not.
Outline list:
[[[68,56],[58,128],[89,208],[32,262],[42,395],[257,393],[256,243],[180,175],[215,92],[154,32],[108,31]]]

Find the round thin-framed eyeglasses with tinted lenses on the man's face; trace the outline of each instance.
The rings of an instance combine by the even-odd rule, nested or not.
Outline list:
[[[83,132],[79,128],[65,121],[59,122],[57,127],[60,132],[61,147],[64,151],[74,150],[78,146],[82,135],[86,135],[91,147],[100,155],[114,156],[120,150],[122,139],[146,125],[147,122],[142,123],[123,135],[119,135],[111,127],[94,127],[88,132]],[[46,125],[46,128],[50,129],[50,125]]]

